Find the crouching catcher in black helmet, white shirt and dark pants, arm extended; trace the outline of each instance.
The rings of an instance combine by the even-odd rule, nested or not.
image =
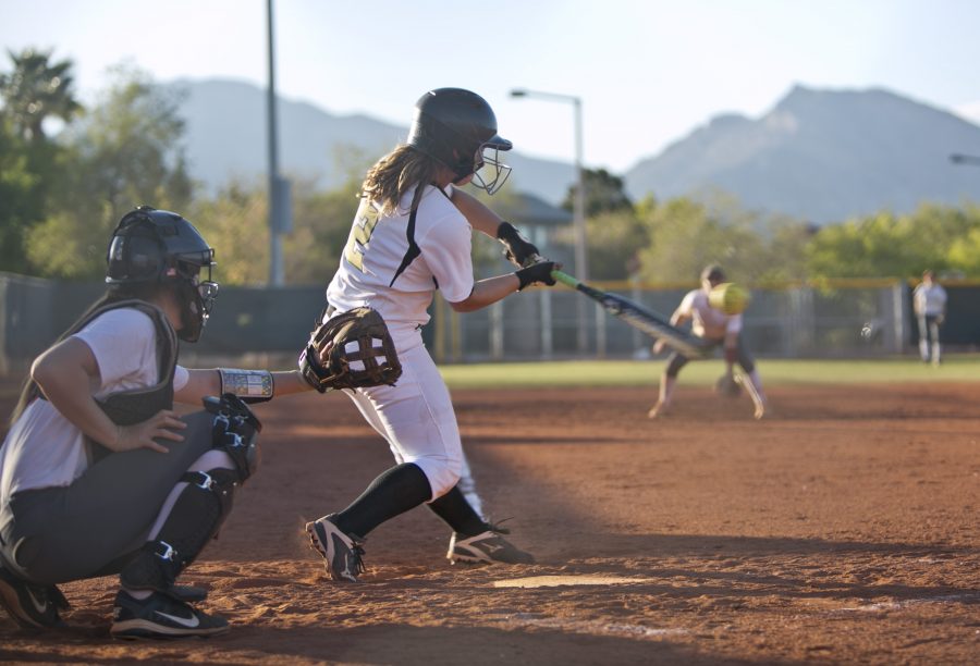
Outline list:
[[[0,602],[22,627],[58,627],[58,583],[119,574],[111,636],[221,633],[223,618],[192,605],[205,592],[175,581],[256,470],[261,424],[245,402],[329,386],[347,341],[321,345],[316,386],[296,370],[187,369],[177,341],[199,338],[215,303],[211,247],[140,207],[107,261],[105,295],[34,361],[0,449]]]

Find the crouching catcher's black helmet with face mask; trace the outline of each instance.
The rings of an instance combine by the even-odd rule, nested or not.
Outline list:
[[[194,225],[169,210],[140,206],[122,217],[106,256],[111,285],[172,284],[182,301],[181,340],[200,337],[218,283],[211,281],[215,250]],[[207,269],[201,280],[200,271]]]

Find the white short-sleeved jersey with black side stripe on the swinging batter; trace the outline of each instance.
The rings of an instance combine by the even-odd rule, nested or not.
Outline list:
[[[436,289],[450,303],[473,292],[473,229],[446,190],[427,185],[414,215],[408,208],[415,188],[402,197],[395,214],[362,199],[340,268],[327,287],[338,310],[375,308],[395,342],[429,321]]]

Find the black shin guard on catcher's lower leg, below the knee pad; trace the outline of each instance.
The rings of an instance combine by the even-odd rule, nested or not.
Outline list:
[[[231,513],[238,472],[231,469],[186,472],[187,483],[154,541],[120,572],[123,587],[167,590],[204,550]]]

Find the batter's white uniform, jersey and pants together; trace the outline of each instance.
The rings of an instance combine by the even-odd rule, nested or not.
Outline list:
[[[363,200],[340,270],[327,287],[327,300],[340,311],[370,306],[391,331],[402,377],[394,386],[345,391],[387,441],[395,461],[417,465],[432,498],[451,490],[463,468],[460,429],[445,382],[422,345],[419,330],[429,321],[436,289],[450,303],[473,293],[473,227],[445,193],[426,186],[414,215],[405,193],[393,215]],[[409,229],[411,227],[411,229]]]

